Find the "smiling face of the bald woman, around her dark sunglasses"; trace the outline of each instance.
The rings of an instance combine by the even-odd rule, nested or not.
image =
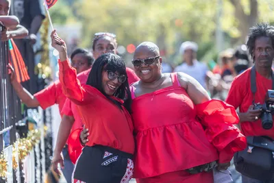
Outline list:
[[[156,58],[150,65],[142,62],[140,66],[134,66],[134,72],[142,82],[150,83],[158,80],[161,72],[162,58],[159,57],[157,51],[151,51],[149,47],[138,47],[134,53],[134,60],[145,60],[147,58]]]

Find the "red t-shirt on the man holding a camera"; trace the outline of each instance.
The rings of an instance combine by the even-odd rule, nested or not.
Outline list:
[[[251,68],[235,77],[229,90],[226,102],[239,108],[240,112],[247,112],[252,105],[253,94],[251,92]],[[256,72],[257,92],[255,94],[255,103],[264,103],[267,90],[272,88],[272,80],[266,79]],[[262,128],[262,121],[242,122],[241,130],[245,136],[269,136],[274,139],[274,127],[270,130]]]

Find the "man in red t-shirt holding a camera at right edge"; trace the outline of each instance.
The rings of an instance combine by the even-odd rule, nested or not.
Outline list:
[[[239,108],[240,129],[245,136],[269,136],[274,139],[274,127],[265,130],[260,119],[261,110],[253,109],[254,103],[263,104],[267,90],[272,90],[271,65],[274,58],[274,27],[266,23],[258,24],[250,29],[247,47],[256,70],[256,88],[253,96],[251,91],[251,68],[235,77],[229,90],[226,102]],[[262,183],[242,175],[243,183]]]

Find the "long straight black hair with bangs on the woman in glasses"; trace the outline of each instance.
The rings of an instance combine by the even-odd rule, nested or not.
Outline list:
[[[88,75],[88,80],[86,84],[97,88],[105,97],[113,101],[117,106],[121,108],[121,104],[110,96],[106,95],[103,90],[102,85],[102,71],[109,70],[112,72],[117,72],[121,75],[125,75],[127,77],[127,72],[125,69],[125,62],[123,58],[117,56],[113,53],[104,53],[97,60],[92,66],[90,74]],[[132,113],[132,95],[129,90],[128,80],[125,80],[121,86],[116,90],[114,93],[114,97],[122,99],[124,101],[123,106],[128,110],[129,113]]]

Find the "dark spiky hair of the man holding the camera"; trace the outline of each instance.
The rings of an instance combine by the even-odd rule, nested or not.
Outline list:
[[[255,48],[255,41],[260,37],[271,38],[272,47],[274,48],[274,27],[268,23],[258,23],[256,26],[249,29],[249,37],[247,40],[247,48],[249,49],[249,54],[254,62],[253,49]]]

